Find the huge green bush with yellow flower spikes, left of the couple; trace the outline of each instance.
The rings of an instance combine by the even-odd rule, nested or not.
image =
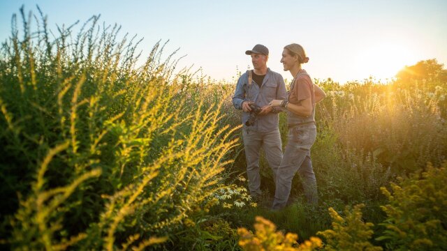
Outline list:
[[[2,243],[14,250],[142,250],[207,198],[237,145],[218,102],[157,43],[137,67],[133,38],[92,17],[48,35],[24,15],[0,51]],[[37,19],[36,19],[37,20]],[[203,88],[203,87],[201,87]],[[197,99],[193,99],[196,100]],[[101,175],[101,176],[100,176]],[[20,195],[17,198],[17,194]],[[9,230],[10,229],[10,230]]]

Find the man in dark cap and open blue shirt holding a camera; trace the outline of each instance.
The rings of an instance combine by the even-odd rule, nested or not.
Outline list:
[[[273,171],[276,182],[276,173],[282,159],[281,136],[279,134],[279,110],[274,110],[268,104],[271,100],[284,100],[286,84],[279,73],[267,68],[268,48],[264,45],[255,45],[253,50],[245,54],[251,56],[254,70],[247,70],[237,80],[233,105],[242,109],[242,139],[244,142],[245,158],[247,160],[247,176],[249,178],[249,191],[251,197],[258,199],[261,194],[261,178],[259,176],[259,151],[265,151],[265,157]],[[261,107],[256,116],[251,105]],[[251,115],[251,116],[250,116]],[[249,118],[250,119],[249,121]],[[253,119],[254,118],[254,119]],[[249,121],[249,123],[247,123]]]

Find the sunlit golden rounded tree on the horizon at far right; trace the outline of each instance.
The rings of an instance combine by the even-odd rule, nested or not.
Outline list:
[[[447,84],[447,70],[444,64],[438,63],[436,59],[428,59],[419,61],[414,66],[405,66],[396,75],[397,80],[402,82],[421,81],[425,79],[427,82],[441,82]]]

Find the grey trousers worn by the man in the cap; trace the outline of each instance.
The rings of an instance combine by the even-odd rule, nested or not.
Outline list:
[[[281,135],[279,129],[270,132],[256,132],[247,126],[242,128],[245,158],[247,160],[247,176],[249,191],[252,197],[258,197],[261,192],[261,177],[259,176],[259,152],[264,149],[265,158],[272,169],[276,180],[277,169],[282,160]]]

